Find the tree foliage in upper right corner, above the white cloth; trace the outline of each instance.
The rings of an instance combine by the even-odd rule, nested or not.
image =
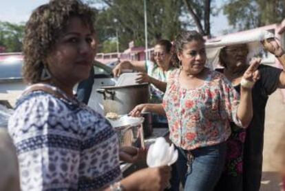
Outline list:
[[[285,18],[284,0],[229,0],[224,4],[229,24],[247,30],[279,23]]]

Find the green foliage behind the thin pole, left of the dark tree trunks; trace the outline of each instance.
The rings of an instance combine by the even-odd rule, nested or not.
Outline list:
[[[89,0],[88,2],[97,5],[105,3],[105,6],[101,6],[101,9],[97,10],[95,28],[99,41],[108,41],[110,38],[116,37],[116,30],[118,30],[121,51],[128,48],[129,41],[135,41],[136,46],[144,46],[143,0]],[[149,44],[153,45],[162,38],[173,40],[178,31],[188,26],[187,23],[180,21],[181,15],[181,0],[147,0]]]

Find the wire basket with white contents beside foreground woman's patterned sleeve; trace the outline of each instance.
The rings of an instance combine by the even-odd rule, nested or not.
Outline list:
[[[123,115],[118,119],[108,119],[118,134],[120,146],[145,147],[142,117],[129,117]]]

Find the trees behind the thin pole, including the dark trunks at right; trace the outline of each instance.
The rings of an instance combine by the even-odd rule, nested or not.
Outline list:
[[[197,26],[203,35],[211,35],[210,15],[213,0],[159,0],[147,1],[147,32],[149,44],[159,39],[173,40],[180,30]],[[96,5],[98,39],[109,41],[116,37],[120,50],[128,47],[129,41],[136,46],[145,45],[144,1],[136,0],[88,0]],[[102,6],[103,5],[103,6]],[[187,17],[189,14],[192,17]],[[102,46],[101,46],[102,47]]]

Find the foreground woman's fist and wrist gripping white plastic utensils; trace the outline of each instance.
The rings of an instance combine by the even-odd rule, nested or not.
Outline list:
[[[171,167],[161,166],[158,168],[145,168],[131,174],[138,188],[141,191],[164,190],[169,185]]]

